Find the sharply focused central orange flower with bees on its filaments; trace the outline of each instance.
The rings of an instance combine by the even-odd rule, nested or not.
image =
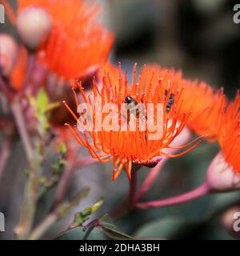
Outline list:
[[[127,80],[127,74],[122,76],[122,69],[119,65],[118,67],[118,82],[112,82],[111,73],[105,72],[102,76],[102,85],[98,87],[97,83],[93,81],[93,92],[92,94],[86,95],[84,88],[81,83],[78,83],[78,88],[80,94],[84,101],[94,108],[94,102],[97,98],[101,98],[102,107],[106,103],[114,103],[117,109],[120,110],[121,104],[126,102],[126,98],[134,98],[134,101],[138,103],[142,102],[147,108],[147,103],[152,103],[154,105],[154,121],[156,118],[158,103],[162,103],[162,136],[158,139],[152,140],[150,136],[152,130],[147,125],[146,130],[142,131],[140,129],[140,121],[137,120],[136,130],[97,130],[92,131],[85,130],[80,132],[77,126],[68,126],[81,146],[85,146],[90,155],[93,158],[97,158],[99,162],[109,162],[113,161],[115,169],[113,170],[113,179],[118,178],[122,169],[125,168],[126,173],[129,178],[131,178],[131,167],[134,163],[146,165],[148,162],[152,162],[153,159],[158,159],[158,161],[166,156],[169,158],[174,158],[186,154],[190,150],[193,150],[200,142],[190,142],[184,146],[178,147],[178,149],[184,149],[188,146],[187,150],[180,154],[168,154],[164,152],[164,149],[174,149],[170,146],[174,138],[181,134],[183,128],[186,126],[186,122],[190,118],[190,113],[185,113],[182,122],[178,122],[179,114],[182,106],[180,101],[181,94],[183,90],[178,90],[178,86],[174,82],[174,78],[164,76],[155,77],[152,72],[150,74],[150,67],[144,66],[141,70],[139,77],[137,79],[136,75],[136,65],[134,66],[133,78],[131,85]],[[138,81],[137,81],[138,80]],[[152,81],[155,81],[154,83]],[[167,107],[170,104],[170,97],[174,95],[174,102],[171,104],[170,109]],[[76,105],[79,105],[78,96],[74,91],[74,98]],[[66,108],[74,116],[76,122],[82,119],[82,113],[79,114],[79,118],[74,114],[74,111],[70,109],[70,106],[63,102]],[[90,119],[93,123],[98,118],[100,113],[93,111],[90,115]],[[109,114],[109,113],[108,113]],[[108,116],[106,113],[102,113],[102,120]],[[118,114],[117,122],[122,118],[122,114]],[[125,117],[126,118],[126,117]],[[149,117],[149,115],[146,117]],[[124,118],[123,118],[124,119]],[[128,118],[126,118],[128,122]],[[100,123],[103,126],[104,121]],[[196,143],[195,143],[196,142]]]

